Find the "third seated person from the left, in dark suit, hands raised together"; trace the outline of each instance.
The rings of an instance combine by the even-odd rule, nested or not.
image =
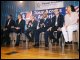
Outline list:
[[[34,16],[32,16],[32,19],[28,22],[28,25],[27,25],[28,29],[26,31],[26,35],[29,41],[34,41],[34,33],[37,28],[37,24],[38,22],[35,20]],[[29,35],[29,33],[31,33],[31,36]]]

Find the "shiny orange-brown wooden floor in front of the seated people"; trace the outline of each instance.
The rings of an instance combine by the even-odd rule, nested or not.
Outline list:
[[[1,47],[1,59],[79,59],[79,51],[72,48],[65,48],[61,51],[59,46],[53,49],[45,50],[44,48],[23,47]]]

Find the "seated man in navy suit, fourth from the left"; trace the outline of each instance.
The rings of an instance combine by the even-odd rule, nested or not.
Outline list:
[[[39,47],[39,34],[41,32],[44,32],[44,35],[45,35],[45,32],[50,27],[50,24],[51,24],[51,20],[48,18],[47,12],[44,12],[43,18],[40,20],[40,23],[39,23],[40,28],[35,31],[35,45],[34,45],[35,47]],[[46,47],[48,46],[47,40],[45,40],[45,46]]]

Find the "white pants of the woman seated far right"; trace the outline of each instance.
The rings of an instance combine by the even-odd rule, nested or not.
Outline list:
[[[62,33],[65,39],[65,42],[71,42],[73,40],[73,31],[77,30],[79,26],[77,24],[70,25],[67,28],[62,27]]]

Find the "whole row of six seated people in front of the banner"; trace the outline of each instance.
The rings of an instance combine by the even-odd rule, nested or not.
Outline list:
[[[29,41],[33,40],[35,41],[35,47],[39,47],[39,35],[41,32],[44,32],[44,39],[45,39],[45,47],[47,48],[49,45],[48,37],[50,39],[53,39],[53,42],[59,43],[59,38],[61,36],[61,33],[63,33],[63,36],[65,38],[65,42],[71,42],[72,41],[72,32],[74,30],[77,30],[77,14],[75,11],[72,10],[72,5],[68,6],[67,10],[69,13],[71,13],[71,16],[69,14],[66,14],[65,17],[59,12],[59,9],[54,9],[54,16],[52,19],[48,18],[47,12],[43,12],[42,19],[38,23],[37,20],[35,20],[34,17],[32,17],[31,21],[28,22],[28,29],[25,31],[25,35],[29,39]],[[71,8],[71,10],[69,9]],[[75,17],[75,19],[73,19]],[[25,28],[25,21],[22,19],[22,15],[18,15],[18,20],[16,20],[16,23],[14,23],[14,20],[11,20],[11,16],[9,16],[9,19],[6,22],[6,37],[7,41],[9,40],[9,33],[11,32],[11,29],[14,30],[16,33],[24,33]],[[70,19],[71,18],[71,19]],[[71,20],[71,21],[70,21]],[[74,20],[74,21],[73,21]],[[63,25],[64,24],[64,25]],[[15,29],[12,27],[15,26]],[[39,28],[37,28],[39,26]],[[74,26],[76,26],[74,28]],[[54,37],[53,32],[57,31],[57,38]],[[68,35],[67,35],[67,32]],[[29,33],[32,33],[31,36]],[[69,39],[67,39],[69,36]],[[35,39],[35,40],[34,40]],[[8,42],[9,43],[9,42]],[[16,41],[16,46],[19,45],[19,39]]]

